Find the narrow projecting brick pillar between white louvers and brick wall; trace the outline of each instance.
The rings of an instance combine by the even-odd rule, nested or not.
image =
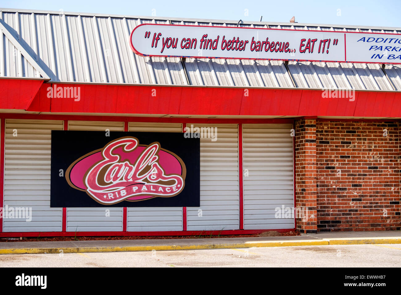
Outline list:
[[[295,122],[296,230],[317,233],[316,119]]]

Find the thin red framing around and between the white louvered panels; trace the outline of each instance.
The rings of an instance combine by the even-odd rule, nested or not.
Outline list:
[[[83,115],[47,115],[47,114],[0,114],[1,118],[1,143],[0,153],[2,161],[0,163],[0,186],[4,191],[4,149],[5,149],[5,119],[26,119],[26,120],[63,120],[64,130],[68,130],[69,120],[82,121],[112,121],[124,122],[124,131],[128,131],[129,122],[174,122],[181,123],[184,131],[186,122],[198,124],[238,124],[238,146],[239,146],[239,212],[240,212],[240,229],[239,230],[223,230],[223,231],[203,231],[203,234],[258,234],[270,230],[277,232],[289,232],[292,229],[265,229],[265,230],[244,230],[243,229],[243,158],[242,158],[242,124],[257,123],[293,123],[294,119],[202,119],[202,118],[149,118],[149,117],[122,117],[122,116],[83,116]],[[3,206],[3,191],[0,195],[0,205]],[[156,231],[156,232],[128,232],[127,231],[127,208],[123,208],[123,230],[121,232],[67,232],[67,208],[62,209],[62,231],[61,232],[2,232],[2,218],[0,218],[0,237],[34,237],[34,236],[191,236],[199,234],[201,231],[188,231],[186,220],[186,207],[182,208],[183,231]]]

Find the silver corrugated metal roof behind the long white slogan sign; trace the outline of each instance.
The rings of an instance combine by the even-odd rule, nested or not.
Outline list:
[[[141,23],[237,26],[238,21],[0,8],[0,76],[53,81],[239,87],[401,90],[401,67],[379,64],[141,57],[128,42]],[[242,27],[401,33],[401,28],[277,22]],[[10,37],[11,36],[11,37]],[[387,76],[386,76],[387,74]],[[188,80],[187,80],[188,77]],[[294,83],[293,83],[294,81]]]

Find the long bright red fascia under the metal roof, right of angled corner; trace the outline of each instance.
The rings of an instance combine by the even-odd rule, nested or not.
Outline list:
[[[322,90],[157,85],[62,84],[80,87],[74,98],[49,98],[45,83],[28,111],[190,116],[401,117],[401,92],[355,91],[349,98],[323,98]]]

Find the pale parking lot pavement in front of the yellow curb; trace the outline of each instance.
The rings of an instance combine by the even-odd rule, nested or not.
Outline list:
[[[401,244],[3,254],[0,267],[401,267]]]

